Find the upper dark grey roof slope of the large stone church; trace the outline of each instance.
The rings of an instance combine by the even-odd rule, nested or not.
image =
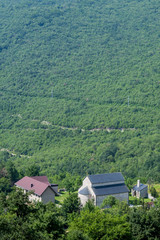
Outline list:
[[[89,175],[88,178],[92,184],[124,181],[124,177],[120,172]]]

